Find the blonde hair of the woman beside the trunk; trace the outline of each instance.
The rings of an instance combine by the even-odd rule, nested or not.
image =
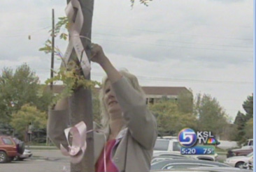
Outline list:
[[[138,84],[138,79],[135,75],[132,75],[131,73],[128,72],[128,70],[120,70],[119,71],[122,77],[125,77],[129,84],[138,91],[138,93],[145,99],[145,93],[141,86]],[[100,102],[100,108],[101,108],[101,125],[102,127],[106,128],[109,125],[109,114],[106,108],[106,104],[104,102],[104,88],[106,86],[106,82],[108,81],[108,77],[104,77],[102,79],[102,84],[101,84],[101,90],[99,91],[99,102]]]

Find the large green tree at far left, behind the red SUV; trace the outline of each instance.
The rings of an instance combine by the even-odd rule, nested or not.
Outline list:
[[[0,123],[10,122],[11,114],[27,103],[47,111],[50,94],[43,93],[38,97],[39,87],[39,79],[29,65],[20,65],[15,72],[3,68],[0,75]]]

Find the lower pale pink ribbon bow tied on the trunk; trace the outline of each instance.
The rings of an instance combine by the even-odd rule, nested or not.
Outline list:
[[[87,147],[86,143],[86,125],[83,121],[76,124],[74,127],[69,127],[64,130],[66,140],[69,144],[69,150],[66,150],[62,144],[60,150],[63,155],[71,157],[71,163],[78,164],[85,154]],[[72,144],[69,143],[69,135],[73,137]]]

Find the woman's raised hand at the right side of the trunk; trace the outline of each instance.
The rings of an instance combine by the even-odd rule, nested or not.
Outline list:
[[[104,65],[108,58],[105,56],[104,51],[100,45],[92,43],[91,45],[91,61],[98,63],[99,65]]]

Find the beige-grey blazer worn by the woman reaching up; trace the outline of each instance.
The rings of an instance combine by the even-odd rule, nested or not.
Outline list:
[[[148,172],[157,139],[155,117],[148,110],[144,98],[134,90],[125,77],[116,81],[112,86],[127,123],[126,128],[121,130],[116,138],[117,143],[111,154],[112,160],[119,171]],[[68,112],[50,110],[48,136],[58,148],[60,143],[67,145],[64,136],[66,127],[68,127]],[[108,138],[108,130],[106,130],[106,136]],[[94,164],[104,148],[104,143],[104,134],[94,132]]]

